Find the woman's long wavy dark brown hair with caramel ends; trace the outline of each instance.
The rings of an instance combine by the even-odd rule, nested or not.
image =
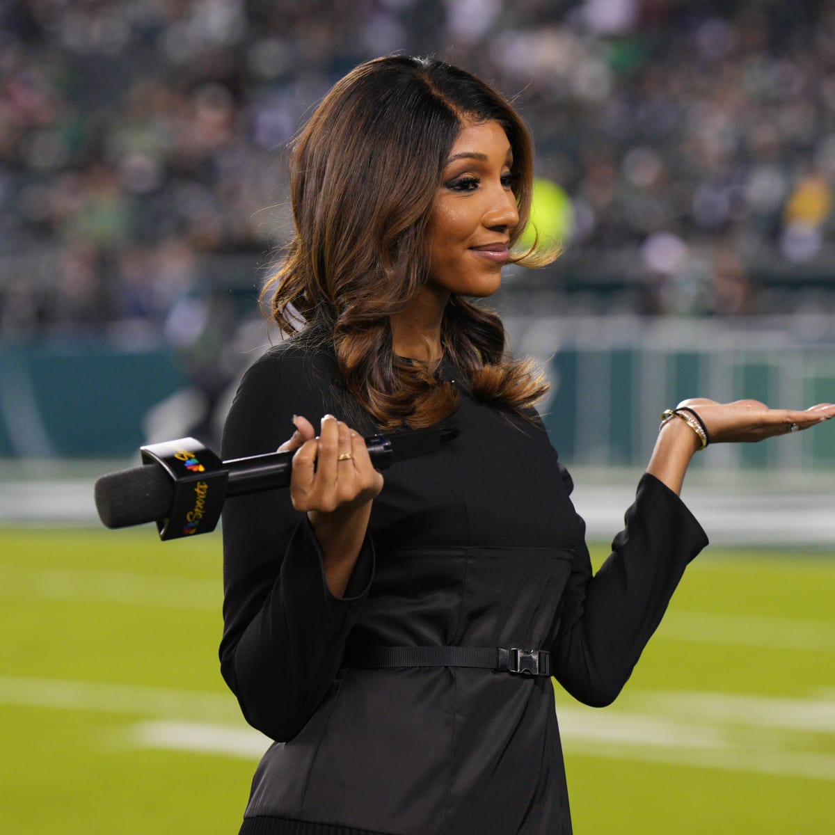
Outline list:
[[[495,120],[514,155],[519,225],[529,217],[533,143],[495,89],[430,58],[363,63],[326,95],[291,156],[296,234],[261,293],[283,331],[324,336],[347,391],[382,428],[417,428],[454,411],[457,393],[435,369],[397,357],[389,318],[405,310],[429,275],[428,230],[450,149],[466,123]],[[528,251],[511,261],[538,266]],[[452,296],[442,324],[444,356],[475,397],[529,413],[547,390],[529,362],[509,357],[498,316]]]

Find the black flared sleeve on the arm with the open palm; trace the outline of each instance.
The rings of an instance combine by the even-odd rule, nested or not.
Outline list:
[[[570,489],[568,473],[564,477]],[[584,535],[579,537],[552,650],[554,676],[565,690],[591,706],[615,701],[686,565],[706,544],[681,498],[649,473],[594,576]]]

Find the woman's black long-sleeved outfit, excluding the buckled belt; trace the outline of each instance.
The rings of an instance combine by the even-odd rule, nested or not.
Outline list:
[[[340,397],[326,352],[293,341],[271,349],[241,383],[223,458],[275,449],[294,413],[316,425]],[[354,669],[343,655],[366,646],[544,649],[569,693],[602,706],[629,678],[706,536],[676,494],[645,475],[592,577],[568,473],[541,425],[463,387],[456,419],[460,434],[440,452],[385,473],[342,599],[327,590],[289,491],[226,502],[221,670],[247,721],[276,740],[241,832],[571,832],[549,678]]]

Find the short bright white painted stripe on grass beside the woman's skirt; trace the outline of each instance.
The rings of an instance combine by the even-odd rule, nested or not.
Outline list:
[[[251,728],[202,725],[199,722],[147,721],[130,729],[129,743],[139,748],[220,754],[260,759],[271,739]]]

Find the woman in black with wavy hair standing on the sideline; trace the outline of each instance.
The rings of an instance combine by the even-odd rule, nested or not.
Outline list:
[[[295,427],[291,489],[225,506],[221,667],[276,741],[241,832],[571,832],[549,673],[592,705],[629,678],[707,542],[678,498],[706,435],[835,414],[690,401],[592,577],[544,383],[465,299],[533,260],[513,254],[531,177],[510,105],[431,60],[358,67],[296,142],[296,235],[266,293],[303,326],[251,367],[223,444],[262,453]],[[444,421],[438,453],[372,467],[362,435]]]

